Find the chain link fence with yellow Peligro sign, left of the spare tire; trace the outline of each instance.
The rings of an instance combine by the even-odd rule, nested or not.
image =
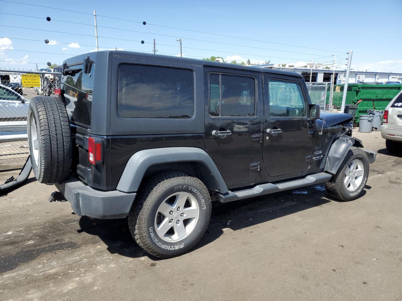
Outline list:
[[[60,87],[61,73],[0,70],[0,170],[19,169],[28,155],[29,101]]]

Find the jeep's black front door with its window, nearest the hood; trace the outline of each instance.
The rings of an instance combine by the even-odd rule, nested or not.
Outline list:
[[[264,74],[264,146],[267,173],[280,176],[306,171],[312,160],[308,102],[299,77]]]

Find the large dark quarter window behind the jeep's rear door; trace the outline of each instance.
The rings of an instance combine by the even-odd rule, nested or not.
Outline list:
[[[194,113],[193,71],[120,65],[117,110],[121,117],[191,118]]]

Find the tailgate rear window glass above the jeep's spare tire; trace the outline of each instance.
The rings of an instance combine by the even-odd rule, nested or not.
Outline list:
[[[78,65],[72,68],[82,67],[83,65]],[[94,71],[95,64],[92,64],[89,74],[81,70],[76,74],[62,75],[61,88],[64,89],[68,118],[75,124],[91,125]]]

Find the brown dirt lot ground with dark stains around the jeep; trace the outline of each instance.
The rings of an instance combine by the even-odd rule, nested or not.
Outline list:
[[[195,250],[167,260],[31,178],[0,197],[0,300],[402,300],[402,158],[355,132],[378,151],[363,197],[318,185],[216,203]]]

